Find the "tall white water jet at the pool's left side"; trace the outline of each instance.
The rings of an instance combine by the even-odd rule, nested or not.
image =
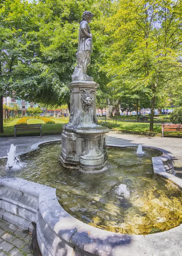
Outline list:
[[[20,169],[23,166],[26,166],[26,163],[22,163],[20,158],[16,155],[16,146],[11,144],[8,152],[8,161],[6,168]]]

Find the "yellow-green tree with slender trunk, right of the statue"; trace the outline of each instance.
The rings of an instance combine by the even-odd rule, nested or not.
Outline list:
[[[113,43],[108,74],[132,91],[150,96],[150,131],[156,97],[168,94],[182,75],[182,3],[179,0],[116,1],[107,19]]]

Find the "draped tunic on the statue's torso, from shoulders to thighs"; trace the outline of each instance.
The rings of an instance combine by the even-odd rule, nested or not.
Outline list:
[[[90,27],[86,20],[80,23],[78,36],[78,52],[91,51],[92,52],[92,38],[90,38]]]

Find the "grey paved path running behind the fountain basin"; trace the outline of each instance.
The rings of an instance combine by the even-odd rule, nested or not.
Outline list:
[[[0,156],[6,156],[10,145],[17,145],[17,153],[28,151],[32,144],[46,141],[61,139],[61,134],[32,136],[32,137],[1,137],[0,138]],[[177,176],[182,177],[182,138],[170,137],[147,137],[135,134],[124,134],[117,131],[110,131],[106,137],[107,144],[116,145],[147,145],[158,148],[163,148],[170,151],[173,155],[173,162]]]

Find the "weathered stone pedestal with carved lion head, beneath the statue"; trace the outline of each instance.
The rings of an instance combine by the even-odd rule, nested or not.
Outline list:
[[[89,80],[89,81],[88,81]],[[64,167],[92,172],[107,161],[105,133],[107,127],[98,125],[96,116],[96,84],[92,78],[74,80],[70,89],[69,123],[62,133],[61,162]]]

